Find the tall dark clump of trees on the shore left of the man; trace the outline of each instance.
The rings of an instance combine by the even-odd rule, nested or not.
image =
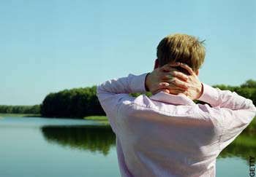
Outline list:
[[[50,93],[41,105],[43,117],[86,117],[105,115],[96,95],[97,87],[75,88]]]

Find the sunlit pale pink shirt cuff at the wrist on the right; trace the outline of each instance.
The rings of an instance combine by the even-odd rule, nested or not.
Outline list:
[[[210,103],[214,105],[219,99],[219,93],[216,88],[209,86],[208,84],[203,84],[203,94],[197,100]]]

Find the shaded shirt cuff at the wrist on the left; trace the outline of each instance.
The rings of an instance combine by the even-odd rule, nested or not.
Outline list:
[[[145,74],[140,74],[138,76],[135,76],[133,74],[129,74],[129,86],[132,90],[132,93],[146,93],[146,88],[145,88],[145,81],[146,81],[146,75]]]

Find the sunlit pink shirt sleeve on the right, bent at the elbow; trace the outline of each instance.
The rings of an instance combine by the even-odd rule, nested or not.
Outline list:
[[[256,109],[252,101],[230,90],[219,90],[203,84],[203,95],[198,99],[210,103],[214,112],[222,119],[220,149],[230,144],[255,117]]]

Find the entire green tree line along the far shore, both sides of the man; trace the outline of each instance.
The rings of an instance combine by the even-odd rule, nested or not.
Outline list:
[[[230,90],[238,95],[249,98],[256,105],[256,81],[249,79],[240,86],[225,84],[214,85],[221,90]],[[42,117],[75,117],[83,118],[91,115],[105,115],[96,96],[96,86],[62,90],[49,93],[42,104],[34,106],[0,106],[0,113],[41,114]],[[138,96],[141,93],[132,93]],[[151,96],[151,93],[146,93]],[[197,102],[198,103],[198,102]]]

